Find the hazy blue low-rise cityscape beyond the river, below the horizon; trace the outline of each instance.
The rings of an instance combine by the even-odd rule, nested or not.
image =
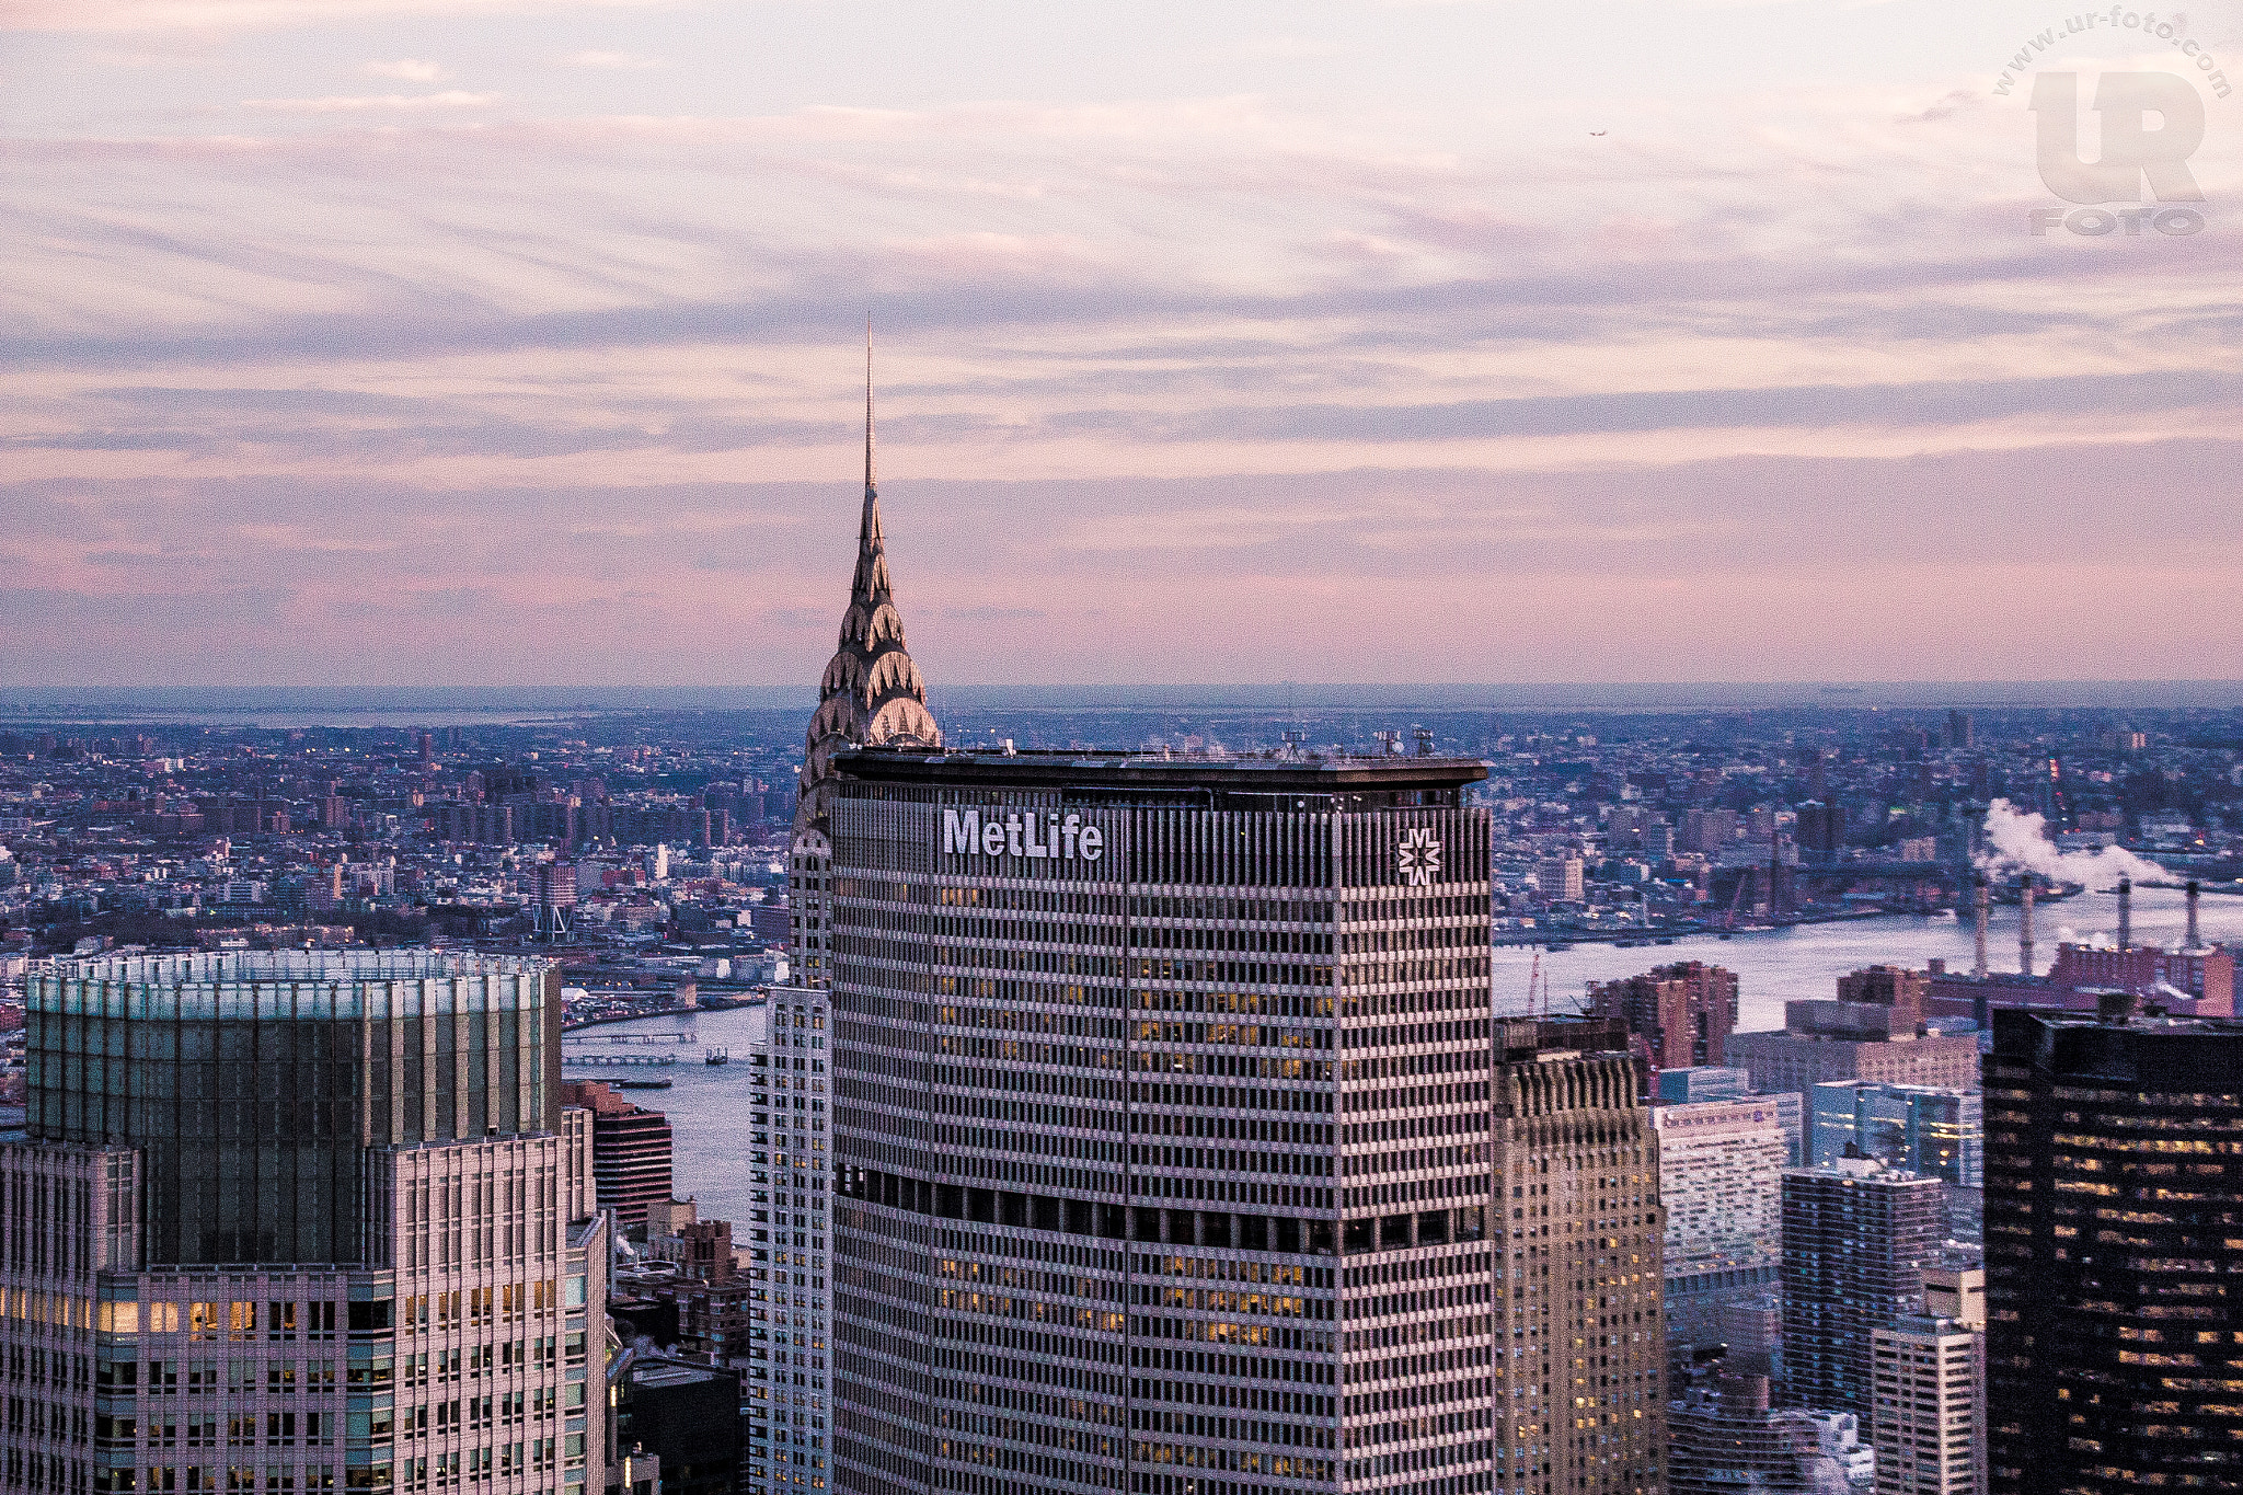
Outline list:
[[[982,713],[989,715],[989,713]],[[980,737],[1178,758],[1420,746],[1487,764],[1494,937],[1631,939],[1969,912],[1994,800],[2057,849],[2243,874],[2243,711],[1021,711]],[[1391,713],[1404,719],[1402,713]],[[20,955],[464,941],[740,984],[785,955],[792,713],[541,726],[0,726],[0,921]],[[976,737],[976,740],[980,740]],[[2046,885],[2043,897],[2061,892]],[[1994,897],[2014,903],[1996,879]],[[630,957],[628,962],[624,957]],[[666,964],[664,964],[666,962]]]

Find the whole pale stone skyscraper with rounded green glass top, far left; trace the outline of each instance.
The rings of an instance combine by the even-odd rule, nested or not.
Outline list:
[[[606,1222],[543,962],[27,982],[0,1491],[601,1488]]]

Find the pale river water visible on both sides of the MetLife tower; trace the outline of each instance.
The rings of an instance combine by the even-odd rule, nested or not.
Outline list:
[[[2133,937],[2140,944],[2178,946],[2185,910],[2178,890],[2144,888],[2133,897]],[[2079,894],[2034,910],[2037,968],[2048,971],[2059,939],[2115,935],[2117,899],[2113,894]],[[2243,897],[2203,899],[2203,937],[2243,944]],[[1572,950],[1543,953],[1543,975],[1557,1011],[1570,1011],[1588,982],[1610,982],[1651,966],[1702,959],[1738,975],[1738,1029],[1783,1027],[1783,1004],[1794,997],[1830,997],[1837,977],[1873,964],[1922,966],[1945,957],[1949,968],[1969,971],[1969,917],[1956,923],[1913,914],[1859,919],[1848,923],[1808,923],[1788,930],[1736,935],[1718,939],[1702,935],[1671,946],[1615,950],[1581,944]],[[1996,908],[1987,930],[1987,962],[1994,971],[2016,971],[2016,910]],[[1501,1011],[1523,1011],[1534,950],[1496,950],[1496,1002]],[[567,1078],[626,1078],[659,1074],[671,1089],[626,1092],[648,1109],[666,1112],[675,1136],[673,1177],[677,1195],[693,1195],[704,1217],[745,1219],[747,1210],[747,1065],[709,1067],[704,1049],[729,1047],[736,1056],[760,1036],[763,1013],[733,1009],[724,1013],[691,1013],[646,1018],[572,1033],[565,1051],[666,1051],[637,1042],[603,1044],[601,1038],[626,1033],[684,1033],[677,1062],[666,1069],[592,1069],[567,1067]]]

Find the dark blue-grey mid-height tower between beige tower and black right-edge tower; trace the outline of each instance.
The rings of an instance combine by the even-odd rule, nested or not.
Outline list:
[[[1871,1159],[1783,1174],[1783,1392],[1868,1421],[1871,1336],[1922,1309],[1947,1235],[1938,1179]]]

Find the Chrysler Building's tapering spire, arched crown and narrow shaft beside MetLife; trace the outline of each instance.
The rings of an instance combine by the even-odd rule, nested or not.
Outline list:
[[[926,711],[926,681],[904,648],[904,614],[888,583],[888,542],[879,527],[879,486],[873,453],[873,325],[864,332],[864,518],[857,522],[857,574],[850,578],[841,641],[819,681],[819,708],[803,735],[803,778],[794,800],[794,847],[787,856],[796,982],[825,986],[828,921],[825,872],[832,865],[828,811],[832,755],[846,746],[942,746],[942,728]]]

